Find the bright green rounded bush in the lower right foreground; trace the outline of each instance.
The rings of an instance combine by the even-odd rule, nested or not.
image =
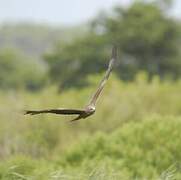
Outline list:
[[[181,118],[175,117],[153,116],[129,122],[112,134],[82,138],[61,159],[65,166],[77,169],[102,162],[116,172],[127,172],[130,179],[156,179],[173,166],[181,178],[180,127]]]

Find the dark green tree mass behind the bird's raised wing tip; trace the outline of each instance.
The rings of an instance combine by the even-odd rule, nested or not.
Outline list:
[[[80,77],[104,70],[112,44],[119,47],[116,72],[121,79],[133,80],[140,70],[150,78],[179,77],[179,23],[158,4],[137,1],[128,8],[115,7],[112,16],[98,16],[89,34],[45,55],[52,79],[60,78],[63,87],[85,85]]]

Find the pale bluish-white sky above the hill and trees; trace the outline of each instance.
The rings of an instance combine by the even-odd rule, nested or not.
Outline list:
[[[54,25],[86,22],[99,11],[133,0],[0,0],[0,23],[30,21]],[[181,1],[176,0],[173,14],[181,17]]]

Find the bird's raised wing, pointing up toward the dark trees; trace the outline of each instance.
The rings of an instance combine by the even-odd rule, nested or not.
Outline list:
[[[103,79],[101,80],[101,82],[100,82],[100,84],[99,84],[99,86],[98,86],[97,91],[96,91],[96,92],[94,93],[94,95],[92,96],[89,105],[93,105],[93,106],[96,105],[96,101],[97,101],[99,95],[101,94],[101,92],[102,92],[102,90],[103,90],[103,88],[104,88],[104,85],[106,84],[106,82],[107,82],[107,80],[108,80],[108,78],[109,78],[109,75],[110,75],[110,73],[111,73],[111,71],[112,71],[112,69],[113,69],[113,66],[114,66],[114,63],[115,63],[115,61],[116,61],[116,58],[117,58],[117,47],[114,46],[114,47],[112,48],[112,55],[111,55],[111,59],[110,59],[110,61],[109,61],[108,69],[107,69],[107,71],[106,71]]]

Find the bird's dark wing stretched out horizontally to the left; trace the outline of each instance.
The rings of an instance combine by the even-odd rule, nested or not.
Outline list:
[[[36,114],[42,114],[42,113],[53,113],[53,114],[64,114],[64,115],[70,115],[70,114],[82,114],[85,110],[80,109],[45,109],[45,110],[38,110],[38,111],[25,111],[24,114],[30,114],[30,115],[36,115]]]

